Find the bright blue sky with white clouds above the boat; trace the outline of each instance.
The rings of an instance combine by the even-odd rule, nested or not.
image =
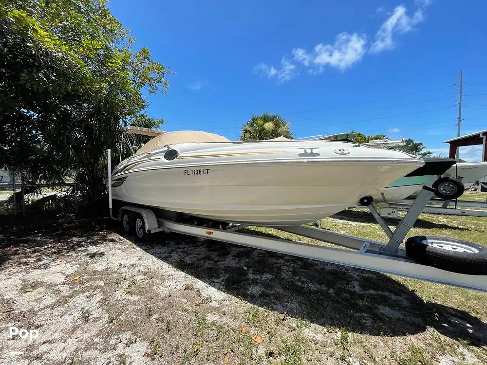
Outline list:
[[[175,72],[150,96],[165,130],[237,139],[252,114],[282,114],[294,136],[358,130],[447,154],[487,128],[487,3],[469,1],[111,1],[112,13]],[[476,147],[461,156],[479,160]]]

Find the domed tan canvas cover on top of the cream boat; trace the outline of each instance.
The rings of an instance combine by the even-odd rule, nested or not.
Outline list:
[[[230,142],[229,139],[214,133],[202,132],[199,130],[181,130],[177,132],[168,132],[161,134],[144,146],[135,153],[135,155],[141,155],[156,148],[175,145],[177,143],[207,143],[207,142]]]

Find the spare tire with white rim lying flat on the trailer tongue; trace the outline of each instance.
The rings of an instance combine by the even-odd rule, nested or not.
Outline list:
[[[487,275],[487,247],[461,239],[410,237],[406,241],[406,255],[454,273]]]

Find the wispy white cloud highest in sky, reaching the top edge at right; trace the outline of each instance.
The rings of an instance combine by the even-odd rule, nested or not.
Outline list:
[[[403,5],[397,6],[391,16],[381,25],[375,34],[370,52],[377,53],[393,49],[395,47],[393,36],[397,33],[404,34],[411,32],[416,24],[424,20],[424,9],[429,4],[429,0],[422,1],[420,7],[412,13],[411,17],[406,14],[407,10]]]

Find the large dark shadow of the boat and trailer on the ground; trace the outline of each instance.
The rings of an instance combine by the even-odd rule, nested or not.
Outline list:
[[[320,326],[386,336],[430,326],[487,346],[487,324],[479,318],[424,302],[384,274],[178,234],[156,236],[140,247],[220,291]]]

